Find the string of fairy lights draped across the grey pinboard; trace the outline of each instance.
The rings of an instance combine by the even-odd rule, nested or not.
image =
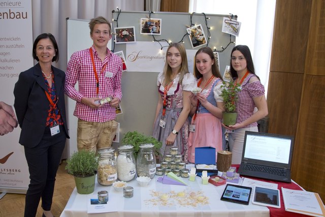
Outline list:
[[[116,19],[113,18],[113,22],[116,22],[116,27],[118,27],[118,18],[119,18],[119,15],[121,13],[121,10],[118,9],[118,7],[116,7],[116,8],[117,8],[117,17],[116,17]],[[114,13],[115,13],[115,11],[113,10],[112,11],[113,17],[114,17]],[[151,15],[152,14],[154,14],[153,11],[149,11],[148,12],[148,16],[147,17],[148,17],[149,20],[151,19]],[[205,24],[205,27],[207,29],[206,30],[206,33],[207,33],[207,37],[206,37],[207,43],[206,43],[206,46],[208,47],[209,46],[210,39],[211,39],[210,29],[212,29],[212,27],[210,27],[209,24],[208,24],[208,20],[210,19],[210,17],[207,17],[207,15],[205,13],[194,13],[193,12],[193,13],[190,14],[190,25],[189,26],[186,25],[186,27],[191,28],[192,26],[196,26],[197,25],[196,23],[193,23],[193,16],[194,15],[203,15],[204,16],[204,20],[205,20],[204,24]],[[230,14],[229,18],[233,19],[234,16],[237,18],[237,15],[233,15],[233,14]],[[187,33],[187,31],[186,31],[186,33],[182,36],[181,40],[178,41],[177,43],[185,43],[184,42],[184,38],[187,37],[187,36],[189,36],[189,35],[190,34]],[[164,47],[168,47],[172,43],[172,41],[168,41],[167,39],[158,39],[157,40],[154,35],[151,35],[151,37],[153,39],[152,40],[153,42],[157,42],[160,45],[160,47],[161,47],[160,49],[161,50]],[[217,50],[216,47],[214,47],[212,50],[214,52],[219,52],[219,53],[220,52],[223,52],[225,49],[227,49],[229,47],[229,45],[231,45],[232,43],[235,43],[234,40],[235,40],[235,36],[232,37],[232,35],[229,35],[229,43],[225,47],[220,46],[220,48],[221,48],[220,50]],[[165,45],[164,46],[161,42],[166,42],[168,45]],[[113,45],[113,52],[114,52],[114,49],[115,49],[115,40],[113,40],[113,43],[114,43],[114,45]]]

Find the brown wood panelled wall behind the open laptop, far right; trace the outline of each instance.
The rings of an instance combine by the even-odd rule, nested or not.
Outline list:
[[[325,201],[325,0],[277,0],[269,133],[295,136],[292,178]]]

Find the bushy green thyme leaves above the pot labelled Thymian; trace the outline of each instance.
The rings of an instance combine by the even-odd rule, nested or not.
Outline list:
[[[80,150],[74,152],[66,162],[68,173],[77,177],[94,175],[98,168],[98,157],[94,151]]]

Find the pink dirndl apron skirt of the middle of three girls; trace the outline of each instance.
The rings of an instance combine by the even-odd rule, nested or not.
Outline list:
[[[188,137],[188,161],[194,163],[195,148],[205,146],[215,148],[217,159],[217,152],[222,150],[221,120],[210,113],[198,113],[194,123],[195,132],[190,132]]]

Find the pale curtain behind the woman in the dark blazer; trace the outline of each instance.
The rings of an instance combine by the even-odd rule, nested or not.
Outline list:
[[[144,11],[145,0],[31,0],[33,39],[42,33],[54,35],[60,57],[53,64],[63,71],[67,68],[66,18],[90,20],[103,16],[112,20],[112,11]],[[31,54],[31,51],[30,51]]]

